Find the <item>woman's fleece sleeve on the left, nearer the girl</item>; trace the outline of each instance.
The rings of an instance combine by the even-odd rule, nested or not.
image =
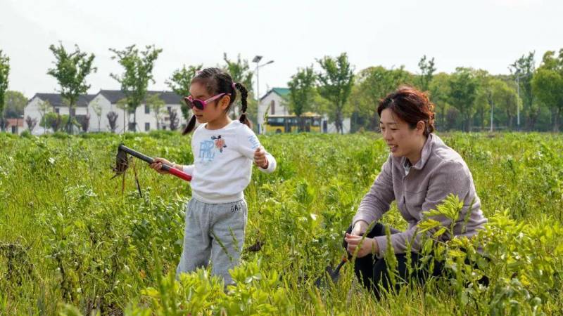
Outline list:
[[[389,158],[381,167],[381,172],[375,178],[371,189],[369,189],[369,192],[360,202],[358,211],[352,220],[352,225],[358,222],[358,220],[364,220],[368,224],[379,220],[389,210],[394,199],[391,155],[389,155]]]

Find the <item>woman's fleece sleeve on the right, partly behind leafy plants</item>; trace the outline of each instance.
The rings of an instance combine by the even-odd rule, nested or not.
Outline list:
[[[472,179],[469,170],[464,168],[460,162],[444,162],[441,166],[436,168],[436,173],[429,181],[426,198],[422,204],[422,212],[436,209],[436,206],[441,204],[450,194],[457,195],[460,201],[464,201],[469,194],[469,190],[471,190],[471,185]],[[471,204],[471,202],[468,204]],[[471,205],[468,204],[464,203],[464,210],[471,208]],[[463,213],[464,211],[462,211],[462,214]],[[423,216],[421,214],[421,220],[422,218]],[[438,220],[441,226],[445,228],[450,227],[451,220],[445,216],[432,216],[431,219]],[[420,223],[421,220],[419,220],[418,223]],[[429,230],[426,232],[426,235],[431,236],[438,229],[439,228]],[[444,234],[441,237],[446,239],[448,236],[449,235]],[[377,236],[374,237],[374,239],[379,246],[379,254],[376,255],[378,258],[381,258],[387,251],[387,237]],[[411,251],[418,252],[422,249],[422,242],[422,235],[418,233],[418,225],[414,225],[404,232],[391,235],[391,246],[395,254],[404,254],[407,251],[407,243],[410,243]]]

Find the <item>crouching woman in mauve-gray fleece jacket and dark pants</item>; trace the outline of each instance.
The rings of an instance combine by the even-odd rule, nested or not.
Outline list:
[[[380,287],[389,289],[390,284],[384,258],[388,241],[384,225],[377,222],[389,210],[393,200],[409,224],[404,232],[390,229],[390,244],[398,261],[398,273],[406,280],[412,277],[423,280],[425,277],[408,275],[410,269],[407,267],[407,263],[420,263],[422,234],[417,231],[417,223],[423,219],[424,211],[436,209],[436,205],[453,194],[463,202],[453,235],[475,235],[487,221],[480,210],[481,202],[467,164],[460,154],[433,133],[433,110],[434,105],[426,95],[411,87],[400,87],[381,100],[377,107],[381,134],[391,154],[362,199],[344,244],[350,254],[360,248],[355,261],[356,275],[378,297]],[[434,216],[433,219],[447,228],[451,227],[450,220],[443,216]],[[373,225],[372,230],[362,240],[370,225]],[[445,240],[450,235],[444,234],[440,238]],[[408,250],[411,251],[410,261],[407,260]],[[433,271],[427,271],[432,275],[440,273],[440,265],[436,265]]]

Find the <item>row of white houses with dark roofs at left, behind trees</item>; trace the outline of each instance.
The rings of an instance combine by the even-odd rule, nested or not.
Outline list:
[[[151,96],[158,94],[160,100],[163,100],[165,105],[163,110],[158,115],[158,123],[160,129],[170,129],[170,112],[176,112],[176,117],[179,119],[178,128],[186,124],[186,120],[182,115],[182,98],[174,92],[170,91],[148,91],[147,95]],[[90,132],[96,131],[111,131],[108,119],[108,113],[115,112],[118,115],[115,121],[115,133],[123,133],[128,131],[129,124],[133,124],[134,114],[128,113],[118,107],[118,101],[125,98],[125,93],[119,90],[100,90],[95,95],[80,96],[75,115],[85,116],[89,114],[89,129]],[[63,103],[60,94],[57,93],[37,93],[24,109],[24,117],[28,116],[37,119],[37,126],[35,126],[34,134],[44,133],[44,128],[39,126],[39,122],[43,116],[39,105],[49,101],[51,108],[47,112],[56,112],[58,114],[68,114],[68,106]],[[101,110],[100,115],[96,113],[96,107]],[[135,110],[137,114],[137,131],[153,131],[157,129],[157,117],[153,109],[148,107],[145,103],[141,104]],[[25,124],[25,128],[28,126]]]

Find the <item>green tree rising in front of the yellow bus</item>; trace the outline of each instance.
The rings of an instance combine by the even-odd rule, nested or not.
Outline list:
[[[298,130],[304,131],[305,126],[301,115],[310,111],[315,91],[315,72],[312,70],[312,65],[298,69],[297,73],[291,76],[287,86],[289,86],[289,108],[298,119]]]

